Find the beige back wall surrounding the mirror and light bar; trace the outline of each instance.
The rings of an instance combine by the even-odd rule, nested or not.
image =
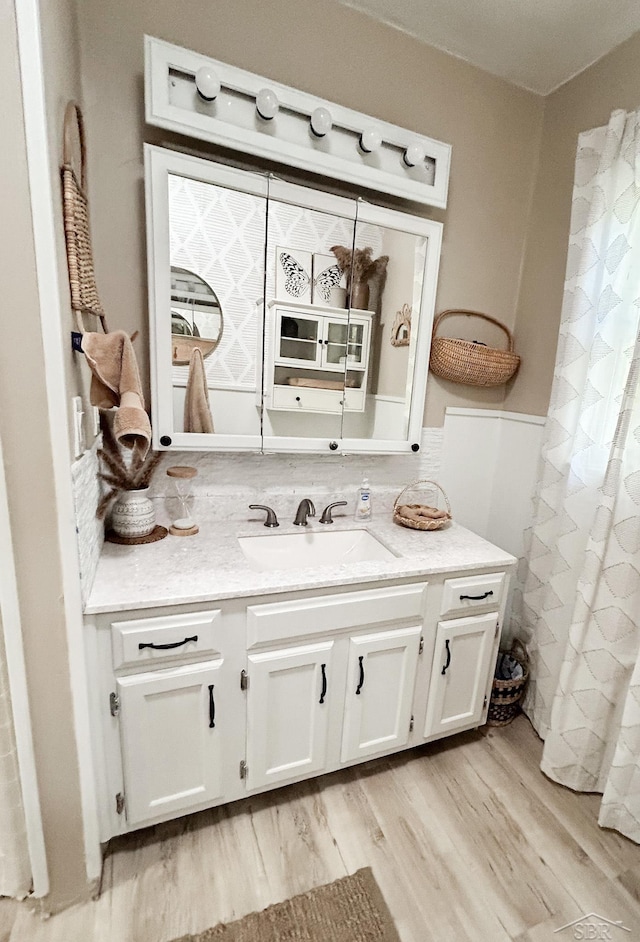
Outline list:
[[[445,222],[438,309],[514,324],[541,98],[335,0],[83,0],[78,13],[98,284],[112,329],[141,329],[145,376],[142,142],[169,136],[143,124],[144,33],[452,144],[449,206],[419,210]],[[432,378],[427,424],[504,393]]]

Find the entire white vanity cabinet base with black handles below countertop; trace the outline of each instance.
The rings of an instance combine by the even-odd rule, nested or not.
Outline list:
[[[507,571],[88,617],[102,840],[481,725]]]

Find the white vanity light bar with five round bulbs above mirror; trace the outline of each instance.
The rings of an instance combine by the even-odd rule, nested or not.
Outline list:
[[[145,36],[147,123],[444,208],[451,147]]]

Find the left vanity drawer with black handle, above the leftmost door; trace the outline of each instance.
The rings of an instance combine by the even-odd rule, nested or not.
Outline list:
[[[220,653],[220,609],[111,623],[114,670]]]

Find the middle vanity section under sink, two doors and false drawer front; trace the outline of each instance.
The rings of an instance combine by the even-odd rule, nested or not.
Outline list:
[[[426,593],[418,583],[249,607],[249,789],[407,744]]]

